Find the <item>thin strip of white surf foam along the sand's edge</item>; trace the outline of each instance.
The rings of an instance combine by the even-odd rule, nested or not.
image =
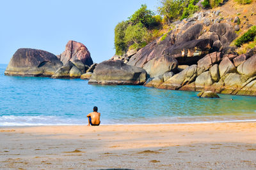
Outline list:
[[[113,120],[102,118],[103,125],[138,125],[138,124],[207,124],[221,122],[256,122],[255,117],[166,117]],[[86,117],[63,118],[54,116],[2,116],[0,126],[35,126],[35,125],[86,125]]]

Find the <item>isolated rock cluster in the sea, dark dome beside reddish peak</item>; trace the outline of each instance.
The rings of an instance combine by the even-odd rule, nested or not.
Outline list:
[[[86,72],[92,73],[95,66],[97,64],[93,64],[86,46],[76,41],[68,41],[65,51],[57,56],[44,50],[20,48],[14,53],[4,74],[80,78]]]

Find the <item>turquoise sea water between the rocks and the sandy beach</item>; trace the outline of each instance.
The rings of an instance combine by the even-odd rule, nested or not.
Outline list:
[[[4,76],[0,64],[0,126],[87,124],[98,106],[102,124],[173,124],[256,120],[256,97],[143,86],[88,85],[80,79]],[[230,99],[234,99],[230,101]]]

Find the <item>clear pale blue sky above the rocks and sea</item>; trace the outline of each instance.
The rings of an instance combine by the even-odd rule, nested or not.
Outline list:
[[[94,62],[108,60],[115,54],[115,25],[141,4],[156,13],[159,1],[1,1],[0,64],[8,64],[18,48],[60,54],[68,40],[83,43]]]

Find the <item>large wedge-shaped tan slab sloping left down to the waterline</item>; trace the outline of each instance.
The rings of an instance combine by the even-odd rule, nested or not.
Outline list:
[[[170,90],[178,90],[180,87],[189,84],[196,79],[196,69],[197,66],[194,64],[192,66],[187,67],[183,71],[178,74],[175,74],[167,81],[164,81],[163,84],[159,86],[160,89],[170,89]]]

